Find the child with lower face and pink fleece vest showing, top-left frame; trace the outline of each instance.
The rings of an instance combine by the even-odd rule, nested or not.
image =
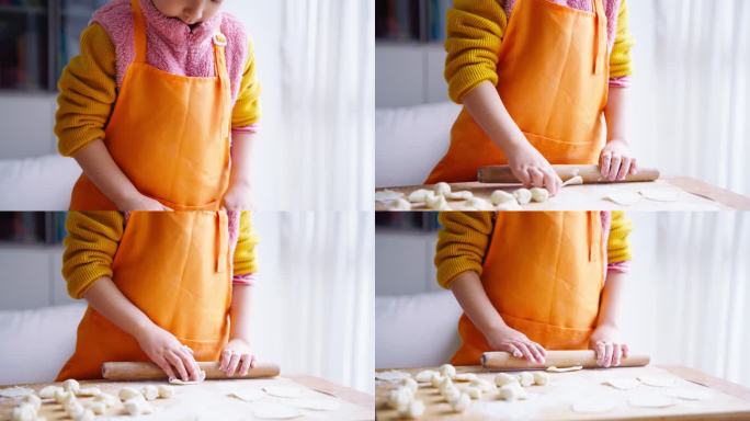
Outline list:
[[[220,7],[112,0],[94,13],[59,81],[58,147],[83,169],[71,209],[251,207],[260,88]]]

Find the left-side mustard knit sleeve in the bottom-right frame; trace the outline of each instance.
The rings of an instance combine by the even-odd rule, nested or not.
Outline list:
[[[491,212],[445,212],[439,220],[443,228],[438,232],[435,266],[438,283],[450,288],[456,276],[464,272],[481,275],[487,244],[492,235]]]

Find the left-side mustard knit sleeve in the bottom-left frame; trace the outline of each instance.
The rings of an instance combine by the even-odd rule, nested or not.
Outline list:
[[[80,299],[96,280],[112,276],[125,218],[118,212],[70,212],[65,225],[63,277],[68,294]]]

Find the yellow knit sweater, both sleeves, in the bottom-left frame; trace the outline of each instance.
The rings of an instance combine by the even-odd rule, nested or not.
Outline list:
[[[95,281],[102,276],[112,277],[112,263],[125,230],[125,217],[120,212],[71,212],[66,228],[63,276],[68,294],[79,299]],[[234,255],[235,276],[255,273],[257,243],[250,213],[242,212]]]

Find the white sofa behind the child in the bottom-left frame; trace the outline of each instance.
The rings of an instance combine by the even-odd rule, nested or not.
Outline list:
[[[86,306],[0,311],[0,385],[54,380],[76,346]]]

